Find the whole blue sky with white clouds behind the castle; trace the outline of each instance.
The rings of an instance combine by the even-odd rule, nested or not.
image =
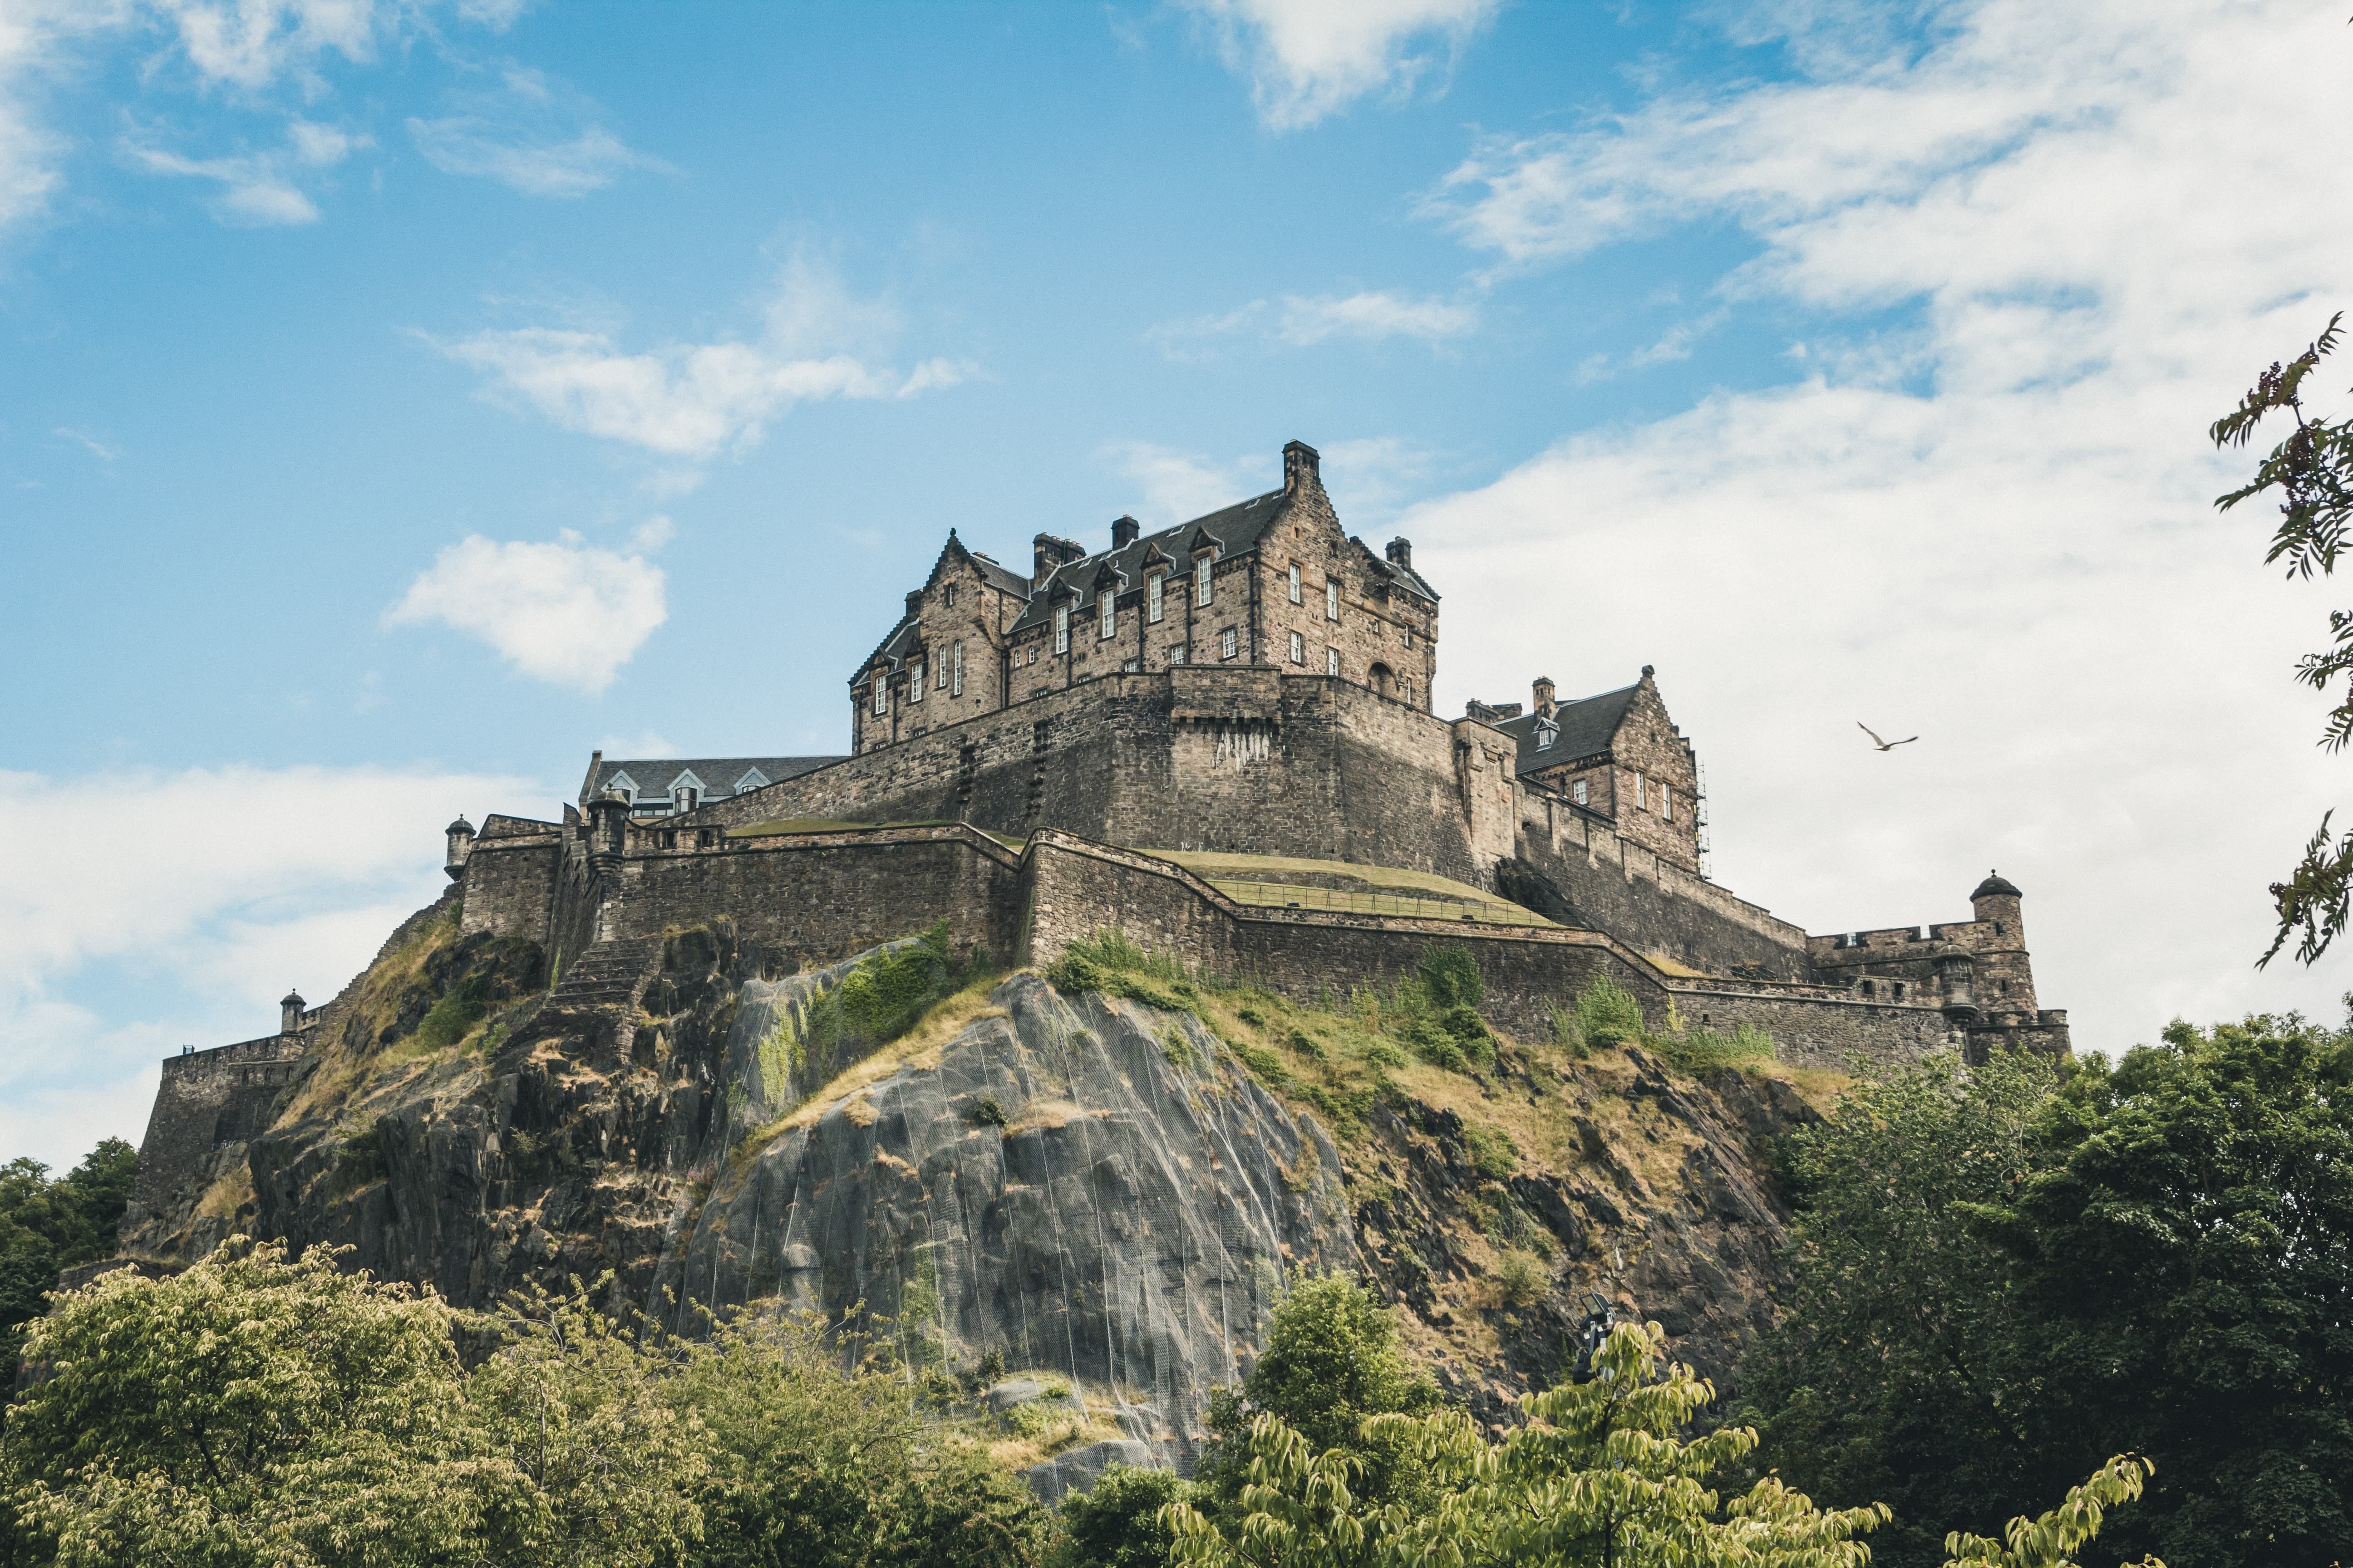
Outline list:
[[[332,994],[456,811],[838,750],[955,527],[1275,484],[1438,698],[1654,663],[1814,931],[2028,889],[2087,1044],[2344,788],[2202,425],[2353,301],[2287,5],[0,0],[0,1154]],[[1857,750],[1857,719],[1922,741]]]

